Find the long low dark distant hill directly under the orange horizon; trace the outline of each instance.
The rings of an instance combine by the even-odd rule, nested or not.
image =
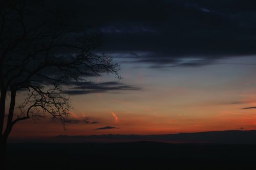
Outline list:
[[[124,142],[124,141],[159,141],[169,143],[224,143],[256,144],[256,130],[251,131],[212,131],[197,133],[177,133],[166,135],[59,135],[53,140],[68,142]]]

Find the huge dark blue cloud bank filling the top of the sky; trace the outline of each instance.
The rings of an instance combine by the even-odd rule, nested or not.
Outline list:
[[[256,54],[255,1],[75,2],[66,5],[80,12],[92,30],[103,33],[102,50],[130,54],[133,63],[202,66],[223,57]]]

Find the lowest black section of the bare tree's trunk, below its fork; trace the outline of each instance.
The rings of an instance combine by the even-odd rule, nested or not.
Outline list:
[[[7,169],[7,138],[0,137],[0,169]]]

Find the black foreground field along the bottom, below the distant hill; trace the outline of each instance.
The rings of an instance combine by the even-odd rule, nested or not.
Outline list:
[[[9,169],[256,169],[256,145],[9,143]]]

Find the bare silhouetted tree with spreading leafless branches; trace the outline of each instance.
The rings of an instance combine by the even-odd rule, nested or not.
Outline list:
[[[49,113],[65,125],[71,109],[66,86],[81,84],[87,76],[100,76],[102,72],[119,78],[119,64],[99,54],[99,35],[78,27],[77,17],[66,15],[65,9],[51,8],[42,2],[0,3],[2,158],[12,127],[20,120]],[[21,104],[16,103],[17,93],[26,96]]]

